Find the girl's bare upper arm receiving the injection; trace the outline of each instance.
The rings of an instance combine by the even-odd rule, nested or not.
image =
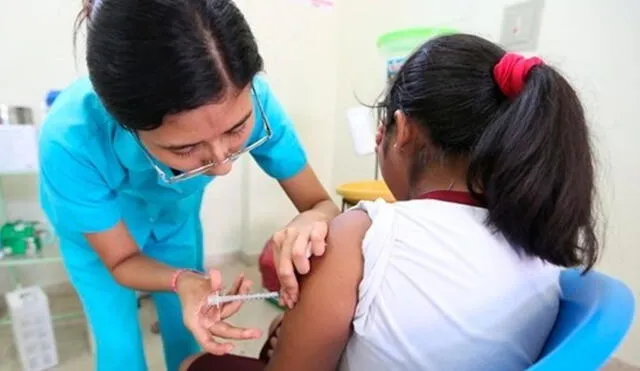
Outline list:
[[[300,299],[282,322],[268,370],[335,370],[351,335],[362,279],[362,241],[371,225],[363,211],[336,217],[327,250],[312,262]]]

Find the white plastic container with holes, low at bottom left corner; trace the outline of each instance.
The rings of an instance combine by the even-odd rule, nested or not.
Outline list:
[[[24,371],[43,371],[58,364],[58,351],[47,295],[38,286],[7,293],[13,339]]]

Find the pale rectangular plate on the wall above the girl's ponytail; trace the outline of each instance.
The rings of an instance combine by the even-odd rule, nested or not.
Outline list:
[[[529,0],[504,8],[500,44],[509,51],[534,51],[538,46],[544,0]]]

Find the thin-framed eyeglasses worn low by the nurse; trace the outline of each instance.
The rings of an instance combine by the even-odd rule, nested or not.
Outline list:
[[[222,160],[222,161],[219,161],[219,162],[212,161],[212,162],[210,162],[208,164],[202,165],[202,166],[200,166],[200,167],[198,167],[196,169],[193,169],[193,170],[185,171],[185,172],[182,172],[182,173],[177,174],[177,175],[168,175],[164,170],[162,170],[160,168],[160,166],[158,166],[156,161],[154,161],[153,157],[151,156],[151,153],[149,153],[149,151],[144,146],[144,144],[142,144],[142,141],[140,140],[138,135],[136,135],[134,133],[133,135],[136,137],[136,140],[138,141],[138,144],[142,148],[142,151],[144,152],[144,154],[147,157],[147,159],[149,160],[149,162],[151,162],[151,165],[153,166],[153,168],[158,173],[158,176],[160,177],[160,179],[162,179],[162,181],[164,181],[167,184],[175,184],[175,183],[179,183],[179,182],[183,182],[185,180],[189,180],[189,179],[195,178],[198,175],[202,175],[202,174],[206,173],[207,171],[209,171],[210,169],[212,169],[212,168],[214,168],[216,166],[220,166],[220,165],[224,165],[224,164],[229,163],[229,162],[233,162],[233,161],[237,160],[238,157],[240,157],[241,155],[243,155],[243,154],[245,154],[247,152],[253,151],[254,149],[256,149],[256,148],[260,147],[261,145],[263,145],[264,143],[266,143],[272,136],[271,125],[269,124],[269,121],[267,120],[267,115],[264,113],[264,108],[262,107],[262,103],[260,103],[260,99],[257,98],[258,95],[256,94],[255,88],[253,86],[251,86],[251,91],[252,91],[253,95],[256,97],[256,102],[258,102],[258,110],[260,111],[260,115],[262,116],[262,123],[263,123],[263,126],[264,126],[265,135],[263,137],[261,137],[260,139],[256,140],[255,142],[245,146],[240,151],[232,153],[230,155],[227,155],[227,157],[225,157],[225,159]]]

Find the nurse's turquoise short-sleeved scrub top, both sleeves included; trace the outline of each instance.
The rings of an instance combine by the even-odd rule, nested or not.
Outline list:
[[[254,110],[259,112],[259,99],[273,135],[251,155],[271,177],[293,177],[307,163],[293,124],[263,78],[256,77],[254,87]],[[265,135],[262,115],[255,118],[249,143]],[[140,144],[107,113],[88,78],[58,96],[42,126],[39,150],[42,207],[62,245],[86,247],[72,254],[77,259],[96,257],[84,233],[106,231],[121,220],[141,248],[181,234],[181,245],[201,238],[192,228],[181,231],[198,218],[204,188],[213,178],[164,183]],[[68,260],[68,252],[64,255]]]

